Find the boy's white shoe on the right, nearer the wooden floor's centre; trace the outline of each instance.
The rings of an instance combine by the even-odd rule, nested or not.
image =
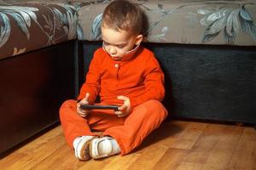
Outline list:
[[[111,137],[90,140],[90,156],[93,159],[113,156],[120,153],[119,144]]]

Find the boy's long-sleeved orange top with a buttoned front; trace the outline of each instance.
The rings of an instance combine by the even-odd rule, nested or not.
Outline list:
[[[115,61],[98,48],[91,59],[86,81],[80,89],[78,99],[90,93],[90,104],[100,95],[101,103],[123,105],[117,96],[129,97],[131,111],[150,99],[161,101],[165,96],[164,74],[154,54],[140,47],[136,54]]]

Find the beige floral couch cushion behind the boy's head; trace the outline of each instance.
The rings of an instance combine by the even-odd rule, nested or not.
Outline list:
[[[80,40],[101,38],[104,8],[111,1],[77,0]],[[133,0],[148,18],[147,42],[256,45],[253,0]]]

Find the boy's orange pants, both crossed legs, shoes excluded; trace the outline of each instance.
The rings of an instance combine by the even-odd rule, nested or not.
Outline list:
[[[95,136],[93,130],[111,136],[119,144],[121,156],[128,154],[143,142],[149,133],[160,126],[167,116],[165,107],[157,100],[137,105],[129,116],[118,117],[113,111],[91,111],[83,118],[76,111],[76,100],[61,105],[60,118],[67,144],[73,148],[73,140],[79,136]]]

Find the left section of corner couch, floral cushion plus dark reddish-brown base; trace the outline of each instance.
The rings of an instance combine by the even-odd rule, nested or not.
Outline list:
[[[75,98],[76,10],[0,1],[0,153],[59,122]]]

